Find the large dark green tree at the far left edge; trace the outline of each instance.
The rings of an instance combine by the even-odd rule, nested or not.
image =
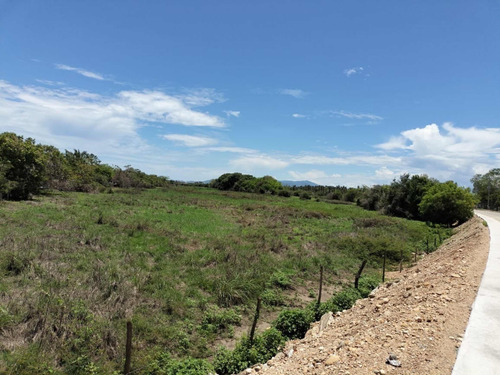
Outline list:
[[[32,138],[0,134],[0,193],[7,199],[28,199],[45,180],[44,154]]]

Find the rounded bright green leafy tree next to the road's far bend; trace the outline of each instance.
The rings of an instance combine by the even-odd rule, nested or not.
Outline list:
[[[431,186],[419,204],[425,220],[453,225],[469,220],[473,215],[476,199],[469,189],[459,187],[453,181]]]

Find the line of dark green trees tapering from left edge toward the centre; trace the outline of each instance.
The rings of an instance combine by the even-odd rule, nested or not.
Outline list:
[[[101,163],[87,151],[59,151],[14,133],[0,134],[0,198],[28,199],[43,190],[97,192],[110,187],[151,188],[167,177]]]

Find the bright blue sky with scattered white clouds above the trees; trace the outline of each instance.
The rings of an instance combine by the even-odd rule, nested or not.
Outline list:
[[[180,180],[469,184],[498,1],[0,0],[0,131]]]

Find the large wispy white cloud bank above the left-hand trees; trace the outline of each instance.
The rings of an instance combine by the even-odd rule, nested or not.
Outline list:
[[[2,131],[62,149],[78,147],[101,157],[130,160],[152,150],[138,133],[151,122],[160,126],[224,126],[218,117],[194,111],[162,92],[122,91],[104,96],[73,88],[16,86],[0,81]]]

